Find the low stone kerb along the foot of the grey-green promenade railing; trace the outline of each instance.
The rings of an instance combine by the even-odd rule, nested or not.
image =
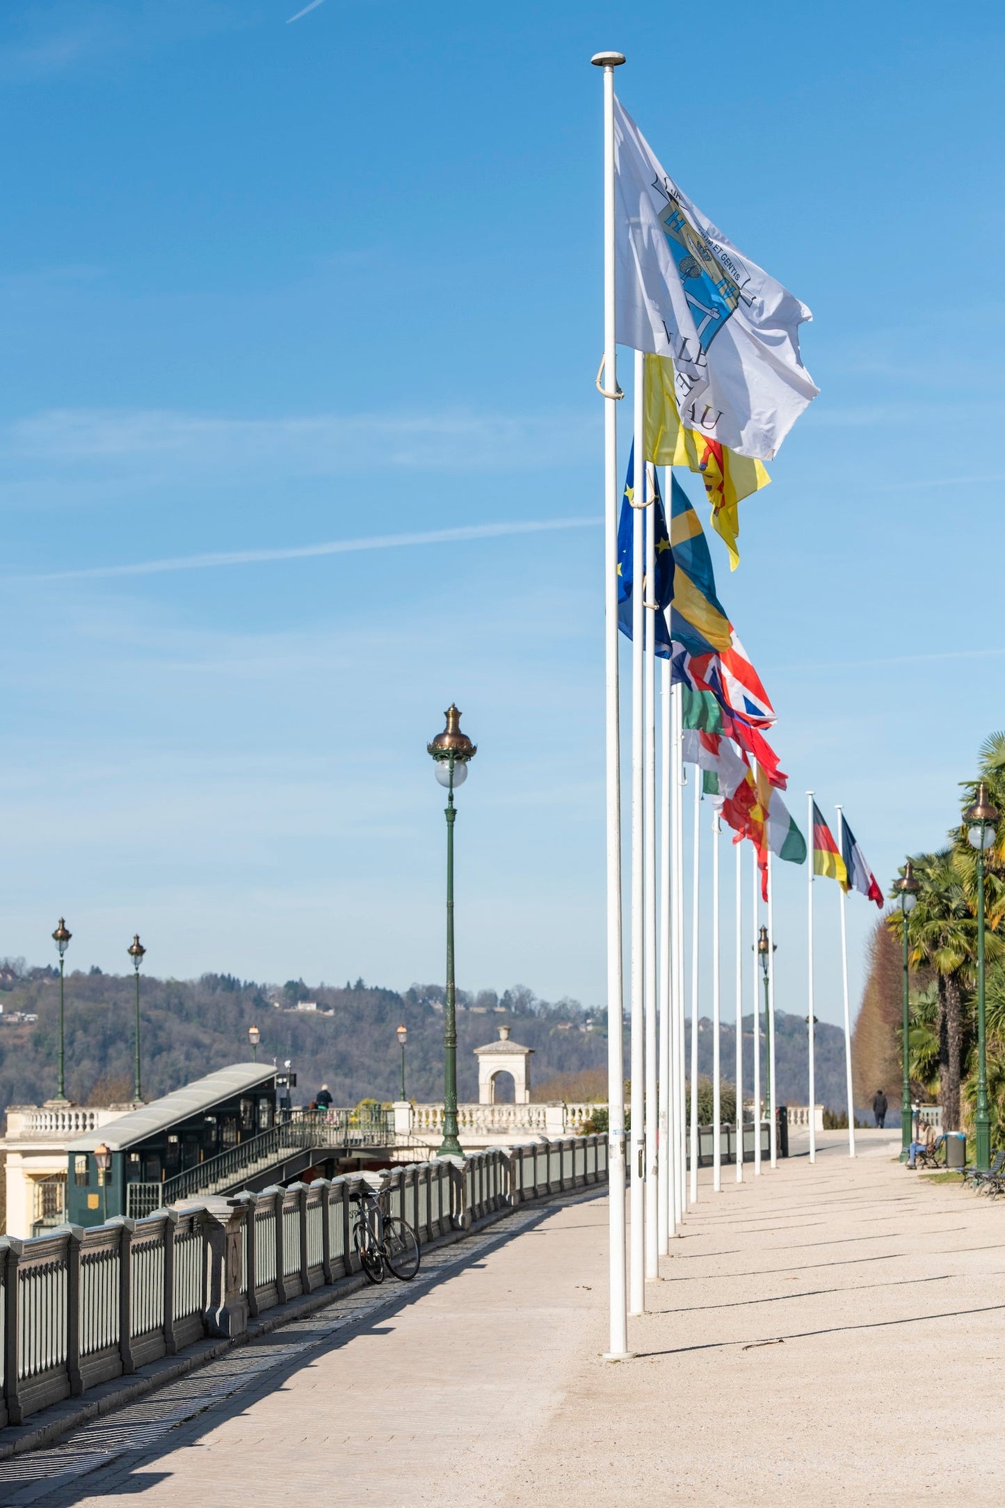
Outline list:
[[[544,1199],[533,1200],[533,1203],[544,1215],[545,1211],[553,1208],[556,1203],[577,1203],[583,1199],[597,1199],[604,1197],[606,1194],[607,1185],[597,1184],[585,1188],[571,1188],[564,1194],[554,1194],[550,1197],[545,1196]],[[526,1205],[517,1205],[511,1209],[494,1209],[490,1214],[473,1220],[467,1229],[448,1231],[443,1235],[435,1237],[432,1241],[423,1243],[422,1253],[425,1256],[426,1252],[434,1252],[440,1247],[455,1246],[460,1241],[472,1240],[472,1237],[479,1235],[487,1226],[497,1224],[514,1215],[526,1214]],[[526,1224],[521,1220],[520,1232],[524,1229]],[[500,1231],[499,1240],[502,1241],[505,1238],[506,1232]],[[203,1366],[208,1366],[209,1362],[214,1362],[218,1356],[225,1356],[235,1347],[247,1345],[249,1342],[259,1339],[259,1336],[279,1330],[282,1326],[289,1324],[294,1320],[303,1320],[318,1309],[327,1309],[330,1304],[338,1303],[348,1294],[357,1292],[360,1288],[366,1286],[369,1286],[369,1280],[365,1273],[353,1273],[348,1277],[339,1277],[330,1286],[315,1289],[312,1294],[304,1294],[298,1298],[291,1298],[285,1304],[270,1309],[265,1315],[249,1320],[249,1327],[243,1335],[214,1336],[206,1341],[196,1342],[196,1345],[185,1350],[184,1356],[164,1356],[157,1362],[149,1362],[146,1366],[139,1368],[128,1377],[116,1377],[108,1383],[101,1383],[99,1386],[90,1389],[86,1401],[81,1398],[68,1398],[65,1402],[53,1404],[51,1408],[45,1408],[39,1415],[33,1416],[30,1424],[8,1425],[5,1430],[0,1430],[0,1461],[8,1461],[11,1457],[21,1455],[26,1451],[36,1451],[42,1446],[54,1445],[71,1430],[90,1424],[102,1415],[115,1413],[116,1408],[122,1408],[125,1404],[136,1402],[137,1398],[157,1392],[157,1389],[163,1387],[166,1383],[173,1383],[179,1377],[185,1377],[190,1372],[196,1372]],[[401,1300],[407,1300],[407,1285],[389,1289],[387,1307],[393,1307]]]

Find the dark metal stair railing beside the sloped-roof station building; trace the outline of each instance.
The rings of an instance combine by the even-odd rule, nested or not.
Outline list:
[[[306,1148],[390,1146],[395,1142],[393,1111],[294,1110],[268,1131],[228,1148],[205,1163],[196,1163],[160,1184],[127,1184],[127,1211],[142,1220],[161,1205],[234,1188],[249,1173],[280,1163],[285,1152]]]

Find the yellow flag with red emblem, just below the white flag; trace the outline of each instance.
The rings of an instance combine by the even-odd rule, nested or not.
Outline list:
[[[645,458],[655,466],[687,466],[705,483],[711,504],[711,526],[729,550],[729,570],[740,564],[741,498],[767,487],[770,477],[761,461],[686,430],[674,397],[674,363],[667,356],[645,359]]]

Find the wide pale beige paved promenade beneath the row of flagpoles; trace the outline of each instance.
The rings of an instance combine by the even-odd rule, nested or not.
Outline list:
[[[158,1395],[146,1436],[80,1431],[59,1485],[8,1463],[0,1503],[999,1503],[1005,1203],[925,1185],[889,1133],[842,1145],[702,1178],[630,1363],[600,1359],[606,1203],[580,1194],[231,1353],[196,1418]]]

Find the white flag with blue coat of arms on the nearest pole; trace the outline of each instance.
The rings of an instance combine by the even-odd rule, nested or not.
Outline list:
[[[812,315],[707,220],[615,101],[618,341],[674,362],[681,422],[771,460],[818,388],[799,356]]]

